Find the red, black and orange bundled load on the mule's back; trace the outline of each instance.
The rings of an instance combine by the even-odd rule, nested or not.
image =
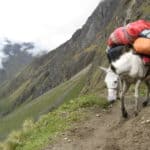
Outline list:
[[[107,41],[108,60],[115,60],[123,52],[122,46],[131,46],[150,65],[150,21],[138,20],[115,29]]]

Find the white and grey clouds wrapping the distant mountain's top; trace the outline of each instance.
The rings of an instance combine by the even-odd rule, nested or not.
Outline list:
[[[5,63],[18,59],[18,56],[37,57],[45,54],[47,51],[42,49],[38,44],[30,42],[10,41],[8,39],[0,39],[0,69],[5,69]],[[22,55],[20,55],[22,53]],[[13,66],[12,66],[13,67]]]

